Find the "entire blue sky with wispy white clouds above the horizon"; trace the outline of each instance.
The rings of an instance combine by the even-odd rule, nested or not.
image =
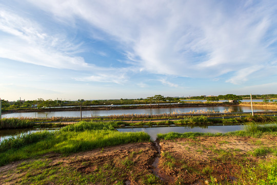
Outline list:
[[[0,0],[0,98],[277,94],[277,3]]]

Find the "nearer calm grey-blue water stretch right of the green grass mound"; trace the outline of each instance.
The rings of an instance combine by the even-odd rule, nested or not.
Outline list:
[[[167,127],[143,127],[143,128],[118,128],[119,132],[146,132],[151,136],[151,139],[156,140],[157,134],[166,134],[169,132],[187,133],[227,133],[242,130],[244,125],[192,125],[192,126],[167,126]]]

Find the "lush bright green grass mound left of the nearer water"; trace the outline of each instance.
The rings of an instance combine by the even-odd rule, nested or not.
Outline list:
[[[150,136],[144,132],[120,133],[114,130],[111,123],[79,122],[52,133],[37,132],[4,140],[0,143],[0,165],[51,152],[68,155],[143,141],[150,141]]]

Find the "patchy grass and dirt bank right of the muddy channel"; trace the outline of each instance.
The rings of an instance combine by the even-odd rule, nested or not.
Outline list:
[[[276,137],[276,122],[226,134],[159,134],[161,168],[180,184],[277,184]]]

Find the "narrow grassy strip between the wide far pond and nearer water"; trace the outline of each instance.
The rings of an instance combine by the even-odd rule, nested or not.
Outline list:
[[[166,119],[174,119],[171,117],[164,117]],[[66,122],[67,119],[63,118],[62,121],[58,120],[57,118],[51,118],[51,119],[44,119],[43,121],[39,123],[34,123],[38,119],[28,119],[28,118],[4,118],[0,121],[0,130],[1,129],[15,129],[15,128],[43,128],[43,127],[60,127],[60,126],[66,126],[62,121]],[[70,121],[80,121],[78,119],[70,119]],[[89,121],[89,119],[84,119],[85,121]],[[60,121],[60,123],[51,123],[48,121]],[[90,120],[91,121],[91,120]],[[100,120],[97,120],[100,121]],[[103,120],[104,121],[104,120]],[[187,116],[180,120],[175,121],[144,121],[141,122],[123,122],[120,120],[114,120],[111,123],[114,127],[119,126],[143,126],[143,125],[170,125],[170,124],[176,124],[176,125],[186,125],[186,124],[236,124],[236,123],[247,123],[247,122],[266,122],[266,121],[277,121],[277,117],[272,116],[246,116],[241,118],[228,118],[228,116],[225,116],[224,119],[222,117],[220,118],[214,118],[209,119],[207,116]]]

